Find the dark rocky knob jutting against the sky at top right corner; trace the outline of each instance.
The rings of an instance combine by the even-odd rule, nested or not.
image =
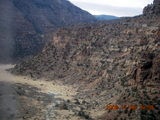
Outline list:
[[[153,4],[148,5],[143,10],[144,15],[160,15],[160,1],[154,0]]]

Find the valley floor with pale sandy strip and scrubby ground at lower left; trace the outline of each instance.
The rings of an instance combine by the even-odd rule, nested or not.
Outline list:
[[[87,111],[83,111],[89,103],[75,98],[76,86],[66,86],[56,80],[15,76],[6,71],[12,67],[0,65],[1,120],[92,119]]]

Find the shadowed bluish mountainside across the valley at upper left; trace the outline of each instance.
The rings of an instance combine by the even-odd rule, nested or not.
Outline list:
[[[66,0],[1,0],[0,9],[0,59],[5,61],[40,51],[45,33],[95,21]]]

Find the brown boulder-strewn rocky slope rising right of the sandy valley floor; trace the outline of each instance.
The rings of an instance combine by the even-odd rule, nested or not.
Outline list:
[[[159,6],[159,1],[152,6]],[[157,11],[160,7],[145,9]],[[85,110],[93,112],[96,120],[158,120],[159,21],[157,12],[144,12],[134,18],[60,29],[41,53],[11,71],[77,86],[76,97],[89,101]],[[109,104],[127,107],[106,108],[102,115]],[[132,105],[138,108],[130,108]],[[146,105],[153,109],[142,108]]]

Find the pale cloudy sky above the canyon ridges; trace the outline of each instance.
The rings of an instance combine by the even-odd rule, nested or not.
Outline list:
[[[74,5],[93,15],[135,16],[153,0],[69,0]]]

